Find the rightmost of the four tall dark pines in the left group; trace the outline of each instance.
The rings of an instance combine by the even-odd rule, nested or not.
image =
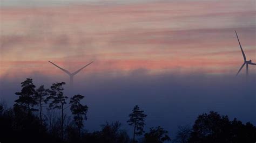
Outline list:
[[[84,126],[83,121],[87,120],[86,113],[88,111],[87,105],[82,105],[80,103],[80,100],[83,99],[84,96],[82,95],[75,95],[70,98],[70,110],[73,114],[73,118],[75,120],[75,123],[78,127],[78,133],[81,134],[81,130]]]

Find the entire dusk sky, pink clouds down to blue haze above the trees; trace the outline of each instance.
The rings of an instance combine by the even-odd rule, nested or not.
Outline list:
[[[93,113],[123,104],[127,112],[142,105],[152,114],[150,125],[159,116],[171,133],[210,110],[256,124],[249,112],[255,111],[256,66],[249,67],[248,86],[235,84],[245,69],[233,79],[243,63],[234,30],[247,59],[256,62],[255,1],[0,2],[0,93],[10,104],[26,77],[37,85],[69,81],[49,60],[71,73],[94,61],[74,79],[91,106],[91,130],[114,117],[125,123],[126,112],[104,119]]]

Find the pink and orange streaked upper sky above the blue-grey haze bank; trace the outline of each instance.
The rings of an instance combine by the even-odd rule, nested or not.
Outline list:
[[[1,77],[71,71],[234,74],[255,58],[255,1],[1,0]],[[256,68],[251,68],[255,73]]]

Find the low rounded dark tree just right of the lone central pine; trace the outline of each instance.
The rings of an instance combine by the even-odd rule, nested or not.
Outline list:
[[[164,128],[151,127],[149,133],[145,133],[144,142],[145,143],[163,143],[164,141],[170,141],[171,138],[168,135],[168,131],[165,131]]]

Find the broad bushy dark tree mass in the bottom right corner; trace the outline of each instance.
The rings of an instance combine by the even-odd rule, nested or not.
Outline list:
[[[251,123],[230,121],[227,116],[211,111],[198,116],[188,142],[254,142],[255,134],[256,127]]]

